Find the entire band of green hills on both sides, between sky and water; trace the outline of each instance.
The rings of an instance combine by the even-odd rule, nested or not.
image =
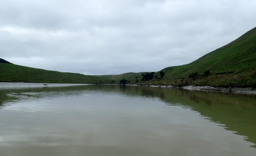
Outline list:
[[[256,88],[256,28],[194,62],[157,72],[92,76],[19,66],[0,59],[0,82]]]

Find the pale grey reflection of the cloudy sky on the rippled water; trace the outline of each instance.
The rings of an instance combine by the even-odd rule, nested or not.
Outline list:
[[[137,92],[131,88],[100,88],[7,92],[14,101],[5,100],[6,107],[0,110],[0,150],[8,153],[9,147],[17,151],[60,148],[67,151],[64,156],[77,148],[80,154],[84,154],[83,149],[95,148],[101,151],[100,155],[109,150],[114,152],[110,152],[112,155],[120,150],[141,156],[255,153],[255,148],[250,147],[253,144],[244,141],[244,136],[212,122],[214,116],[205,116],[207,109],[197,111],[203,97],[197,102],[190,100],[193,104],[187,105],[184,92],[183,99],[176,94],[168,100],[170,90],[164,91],[160,97],[164,96],[165,101],[158,97],[159,89],[149,88],[148,96],[140,96],[145,94],[145,88],[143,91],[133,87]],[[205,106],[218,108],[214,101]]]

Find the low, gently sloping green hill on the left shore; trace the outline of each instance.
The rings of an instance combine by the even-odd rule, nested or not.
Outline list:
[[[56,72],[0,63],[0,82],[42,82],[42,83],[104,83],[106,80],[96,76],[77,73]]]

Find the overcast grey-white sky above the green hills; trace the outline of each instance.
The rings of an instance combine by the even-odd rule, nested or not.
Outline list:
[[[256,0],[0,0],[0,58],[88,75],[190,63],[256,26]]]

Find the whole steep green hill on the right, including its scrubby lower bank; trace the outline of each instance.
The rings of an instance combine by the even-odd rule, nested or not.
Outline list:
[[[210,75],[205,75],[206,70]],[[165,76],[159,78],[159,72]],[[254,86],[256,87],[256,28],[246,32],[240,38],[210,52],[198,60],[182,66],[167,67],[155,73],[153,80],[138,82],[131,78],[130,73],[115,76],[127,78],[131,83],[151,85],[213,85],[213,86]],[[189,75],[198,76],[189,78]],[[133,73],[140,75],[141,73]],[[129,78],[128,78],[129,77]],[[111,77],[109,77],[111,78]]]

